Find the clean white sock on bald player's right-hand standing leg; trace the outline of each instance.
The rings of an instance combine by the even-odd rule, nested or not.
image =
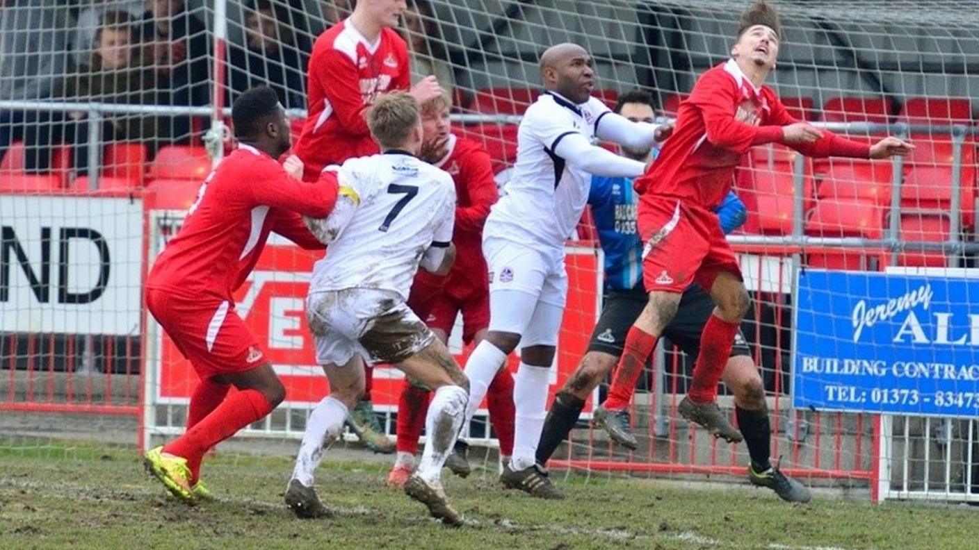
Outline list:
[[[524,470],[536,463],[537,442],[547,416],[547,386],[549,367],[535,367],[520,363],[517,376],[513,377],[513,404],[516,422],[513,434],[513,457],[510,468]]]

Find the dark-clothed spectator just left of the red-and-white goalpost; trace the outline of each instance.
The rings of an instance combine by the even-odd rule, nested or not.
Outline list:
[[[156,70],[154,88],[163,105],[210,104],[210,40],[205,24],[185,0],[146,0],[139,26],[148,64]],[[194,11],[198,11],[195,9]],[[189,116],[166,119],[162,133],[177,141],[190,137]]]

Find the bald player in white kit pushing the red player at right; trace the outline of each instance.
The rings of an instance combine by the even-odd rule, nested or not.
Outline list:
[[[591,144],[593,138],[649,149],[670,126],[631,122],[591,97],[591,56],[558,44],[540,57],[544,92],[527,109],[517,135],[517,161],[504,194],[489,213],[483,253],[489,264],[489,334],[466,363],[467,424],[506,355],[518,343],[514,450],[500,481],[541,498],[564,498],[536,464],[550,367],[568,277],[564,243],[582,217],[592,174],[636,177],[645,164]]]

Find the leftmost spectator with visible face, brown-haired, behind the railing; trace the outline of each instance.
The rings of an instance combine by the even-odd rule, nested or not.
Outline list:
[[[53,94],[64,101],[155,105],[153,69],[140,65],[134,41],[134,21],[129,14],[108,11],[102,14],[95,33],[95,47],[87,63],[70,63],[70,70],[58,82]],[[103,115],[102,141],[138,141],[151,157],[158,140],[157,117],[153,115]],[[73,145],[72,166],[78,174],[88,171],[88,114],[68,113],[59,127],[61,139]]]

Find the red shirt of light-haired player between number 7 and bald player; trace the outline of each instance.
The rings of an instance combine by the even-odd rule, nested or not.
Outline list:
[[[455,226],[452,243],[455,263],[445,276],[443,292],[456,299],[465,299],[474,291],[489,289],[487,260],[483,257],[483,226],[489,207],[498,194],[492,177],[492,162],[482,145],[452,135],[448,154],[436,162],[455,182]],[[431,277],[419,271],[421,277]]]

